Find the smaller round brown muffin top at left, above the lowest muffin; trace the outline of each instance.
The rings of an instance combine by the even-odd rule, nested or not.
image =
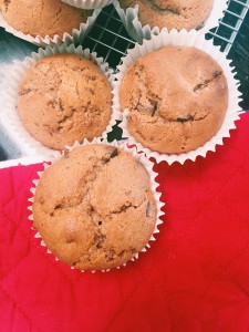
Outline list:
[[[75,54],[43,58],[19,85],[18,112],[43,145],[63,149],[100,136],[111,120],[111,85],[100,68]]]

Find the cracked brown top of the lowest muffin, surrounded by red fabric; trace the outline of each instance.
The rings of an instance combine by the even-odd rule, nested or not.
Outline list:
[[[80,270],[118,267],[148,242],[157,207],[149,175],[108,145],[74,148],[42,175],[33,227],[63,262]]]

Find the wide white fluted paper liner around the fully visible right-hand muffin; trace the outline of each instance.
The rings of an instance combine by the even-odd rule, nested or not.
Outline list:
[[[168,44],[180,45],[180,46],[195,46],[199,50],[208,53],[212,59],[215,59],[219,65],[222,68],[222,71],[226,75],[228,82],[228,108],[226,112],[226,116],[224,123],[218,131],[218,133],[205,145],[198,147],[195,151],[190,151],[188,153],[181,154],[160,154],[158,152],[152,151],[143,146],[138,143],[128,132],[127,129],[127,115],[128,110],[124,110],[124,113],[121,112],[120,105],[120,86],[122,84],[123,77],[129,68],[138,58],[159,50]],[[143,151],[148,158],[154,157],[157,163],[167,162],[172,165],[174,162],[178,162],[181,165],[190,159],[193,162],[196,160],[197,156],[206,157],[209,151],[215,152],[217,145],[224,145],[222,139],[225,137],[230,137],[230,129],[236,128],[235,122],[239,120],[238,112],[241,111],[239,106],[239,102],[241,101],[241,93],[238,91],[239,81],[235,79],[236,72],[235,68],[231,66],[231,61],[227,60],[227,53],[221,53],[219,46],[215,46],[212,42],[209,40],[205,40],[204,35],[199,35],[198,32],[191,30],[187,32],[186,30],[181,30],[178,32],[177,30],[172,30],[169,33],[163,31],[159,35],[153,35],[152,40],[144,40],[142,45],[136,44],[134,49],[128,50],[127,55],[122,59],[123,64],[118,65],[118,73],[115,75],[116,81],[114,82],[114,110],[115,117],[123,120],[120,124],[120,127],[123,129],[123,138],[128,137],[132,144],[135,144],[138,151]],[[170,64],[169,64],[170,65]]]

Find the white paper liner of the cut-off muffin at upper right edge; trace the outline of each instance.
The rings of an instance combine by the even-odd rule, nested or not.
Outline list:
[[[139,6],[134,8],[122,9],[118,1],[114,1],[114,7],[125,27],[128,34],[138,43],[143,42],[143,39],[149,40],[152,35],[159,34],[160,29],[158,27],[149,27],[149,24],[142,25],[138,13]],[[224,17],[224,12],[228,7],[228,0],[214,0],[212,10],[208,19],[204,22],[203,27],[198,29],[200,34],[207,33],[210,29],[218,27],[219,19]],[[162,29],[167,31],[167,28]]]

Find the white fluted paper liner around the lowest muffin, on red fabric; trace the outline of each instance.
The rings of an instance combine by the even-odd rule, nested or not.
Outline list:
[[[73,145],[72,147],[68,147],[68,151],[69,151],[69,152],[72,152],[75,147],[79,147],[79,146],[86,146],[86,145],[93,145],[93,144],[97,144],[97,145],[108,145],[108,146],[117,147],[117,148],[120,148],[120,149],[123,149],[123,151],[125,151],[125,152],[128,152],[128,153],[132,154],[135,158],[137,158],[137,159],[139,160],[139,163],[145,167],[146,172],[147,172],[148,175],[149,175],[149,179],[151,179],[151,189],[152,189],[152,194],[153,194],[153,196],[154,196],[154,198],[155,198],[156,207],[157,207],[157,215],[156,215],[155,228],[154,228],[154,231],[153,231],[153,234],[152,234],[152,236],[151,236],[151,239],[148,240],[148,242],[146,243],[146,246],[145,246],[141,251],[134,253],[134,256],[129,259],[131,261],[134,261],[135,259],[138,259],[139,252],[145,252],[145,251],[147,251],[147,248],[151,248],[149,242],[156,240],[155,237],[154,237],[154,235],[159,232],[158,226],[159,226],[160,224],[163,224],[160,217],[164,216],[164,211],[162,210],[162,208],[164,207],[165,204],[162,203],[162,201],[159,200],[162,194],[160,194],[159,191],[157,191],[158,184],[157,184],[156,180],[155,180],[155,178],[156,178],[156,176],[157,176],[157,173],[155,173],[155,172],[153,170],[154,164],[153,164],[151,160],[148,160],[148,159],[145,157],[144,154],[137,153],[136,147],[135,147],[135,146],[131,147],[131,146],[127,144],[127,142],[124,142],[124,143],[117,143],[116,141],[114,141],[114,142],[112,142],[112,143],[108,143],[106,139],[101,139],[101,138],[94,138],[92,142],[89,142],[87,139],[84,139],[84,143],[83,143],[83,144],[80,144],[79,142],[75,142],[74,145]],[[56,158],[56,160],[59,160],[59,159],[60,159],[60,158]],[[56,162],[56,160],[55,160],[55,162]],[[52,164],[54,164],[54,160],[52,162]],[[43,172],[38,172],[39,179],[41,178],[42,174],[43,174],[49,167],[50,167],[50,165],[44,164],[44,170],[43,170]],[[31,221],[33,221],[33,207],[32,207],[32,206],[33,206],[33,199],[34,199],[37,186],[38,186],[38,184],[39,184],[39,179],[34,179],[34,180],[33,180],[34,187],[32,187],[32,188],[30,189],[30,191],[32,193],[32,197],[28,199],[28,200],[29,200],[29,207],[28,207],[28,209],[32,212],[32,214],[29,216],[29,220],[31,220]],[[33,229],[33,227],[32,227],[32,229]],[[37,230],[35,230],[35,231],[37,231]],[[35,234],[34,237],[35,237],[35,238],[40,238],[40,239],[41,239],[41,246],[46,248],[44,241],[42,240],[41,235],[39,234],[39,231],[37,231],[37,234]],[[48,252],[48,253],[52,253],[52,252],[50,251],[50,249],[48,249],[48,248],[46,248],[46,252]],[[59,260],[55,256],[54,256],[54,258],[55,258],[55,260]],[[127,260],[127,261],[128,261],[128,260]],[[127,261],[123,263],[124,267],[126,266]],[[121,266],[117,266],[117,267],[115,267],[115,268],[116,268],[116,269],[120,269]],[[71,266],[71,269],[77,269],[77,268],[74,268],[74,267]],[[113,268],[111,268],[111,269],[113,269]],[[110,268],[108,268],[108,269],[103,269],[102,272],[105,272],[105,271],[107,272],[107,271],[110,271],[111,269],[110,269]],[[84,270],[81,270],[81,271],[84,272]],[[95,272],[95,270],[91,270],[91,271],[92,271],[92,272]]]

